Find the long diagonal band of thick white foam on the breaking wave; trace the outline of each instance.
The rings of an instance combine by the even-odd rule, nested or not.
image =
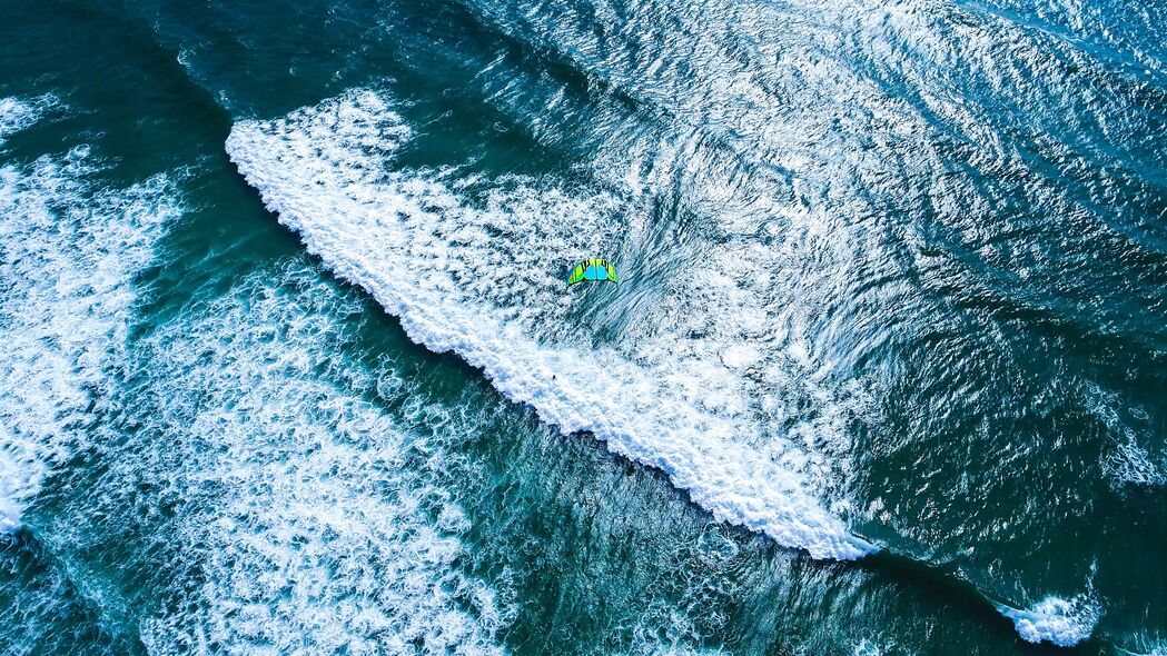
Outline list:
[[[533,249],[530,242],[544,235],[530,216],[574,212],[591,219],[581,212],[607,201],[578,201],[518,181],[484,208],[471,207],[440,175],[389,170],[408,137],[385,99],[354,91],[282,119],[239,123],[226,148],[308,250],[399,316],[414,341],[457,353],[562,431],[592,432],[614,452],[664,470],[720,521],[816,558],[853,559],[875,550],[830,515],[799,475],[738,439],[748,420],[739,398],[720,389],[722,381],[735,384],[720,364],[678,363],[668,353],[635,362],[608,347],[540,343],[524,308],[534,299],[548,302],[561,282],[546,270],[524,270],[522,259],[489,263],[492,268],[480,275],[460,251],[467,243],[505,240],[492,237],[497,231],[525,240],[520,252]],[[498,285],[499,278],[527,282],[524,277],[534,279],[529,295],[499,299],[491,289],[511,286]]]

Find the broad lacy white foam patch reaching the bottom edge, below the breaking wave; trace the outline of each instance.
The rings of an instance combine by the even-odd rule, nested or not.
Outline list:
[[[502,651],[515,609],[463,572],[469,519],[443,483],[475,426],[345,354],[359,310],[293,266],[139,344],[135,396],[156,405],[107,477],[169,490],[177,570],[198,572],[144,623],[151,652]]]

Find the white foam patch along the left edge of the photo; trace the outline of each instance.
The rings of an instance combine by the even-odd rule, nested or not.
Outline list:
[[[43,103],[42,103],[43,104]],[[16,107],[16,109],[13,109]],[[33,105],[6,102],[6,126]],[[16,118],[13,118],[16,117]],[[85,440],[135,298],[133,277],[179,208],[167,179],[92,189],[88,149],[0,168],[0,531]]]

